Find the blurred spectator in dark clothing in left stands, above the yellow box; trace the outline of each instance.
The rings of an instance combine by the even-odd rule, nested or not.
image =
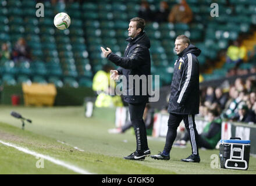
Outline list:
[[[19,60],[31,60],[30,48],[27,46],[24,38],[19,38],[12,52],[12,59],[17,62]]]

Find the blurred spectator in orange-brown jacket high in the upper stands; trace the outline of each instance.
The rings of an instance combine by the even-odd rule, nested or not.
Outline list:
[[[193,13],[185,0],[181,0],[179,4],[173,5],[168,16],[170,23],[190,23],[193,19]]]

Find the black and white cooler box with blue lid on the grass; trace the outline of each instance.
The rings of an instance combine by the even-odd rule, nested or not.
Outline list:
[[[222,169],[247,170],[250,159],[250,140],[230,138],[219,141],[219,159]]]

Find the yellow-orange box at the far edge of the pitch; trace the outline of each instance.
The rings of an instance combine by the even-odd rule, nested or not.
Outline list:
[[[26,106],[53,106],[57,94],[54,84],[22,84],[24,104]]]

